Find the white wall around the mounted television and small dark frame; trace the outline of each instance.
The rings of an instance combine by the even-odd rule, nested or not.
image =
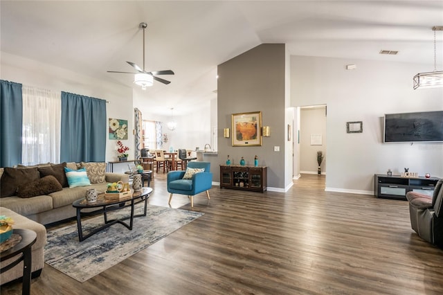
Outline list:
[[[357,69],[347,71],[346,64]],[[443,89],[413,90],[423,65],[326,57],[291,57],[291,103],[327,105],[326,190],[373,191],[375,173],[443,177],[443,143],[382,143],[383,114],[443,109]],[[347,134],[346,122],[363,121]]]

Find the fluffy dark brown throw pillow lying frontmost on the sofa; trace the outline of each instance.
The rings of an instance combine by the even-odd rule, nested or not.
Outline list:
[[[17,188],[17,197],[35,197],[48,195],[62,190],[62,185],[53,175],[45,176],[39,180],[22,184]]]

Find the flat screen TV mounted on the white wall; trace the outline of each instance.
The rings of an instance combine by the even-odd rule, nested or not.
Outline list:
[[[443,142],[443,111],[385,114],[385,143]]]

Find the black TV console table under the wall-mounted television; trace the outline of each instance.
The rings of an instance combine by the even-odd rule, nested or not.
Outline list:
[[[401,177],[400,175],[374,175],[374,195],[387,199],[405,199],[406,193],[415,191],[433,195],[437,177]]]

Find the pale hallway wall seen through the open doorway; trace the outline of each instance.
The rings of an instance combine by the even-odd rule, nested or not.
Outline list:
[[[300,111],[300,172],[317,174],[317,152],[323,152],[322,174],[325,174],[327,155],[326,107],[302,108]],[[321,145],[311,145],[311,135],[321,135]]]

